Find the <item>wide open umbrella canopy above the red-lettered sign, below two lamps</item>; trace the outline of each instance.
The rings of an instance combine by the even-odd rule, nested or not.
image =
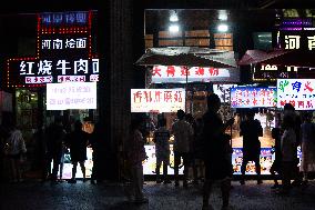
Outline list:
[[[237,68],[233,51],[197,47],[149,48],[135,64]]]

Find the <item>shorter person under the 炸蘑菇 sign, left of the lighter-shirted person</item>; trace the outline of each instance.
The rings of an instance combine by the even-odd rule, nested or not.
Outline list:
[[[160,179],[160,168],[163,162],[163,181],[164,183],[171,183],[167,176],[167,166],[170,164],[170,131],[166,129],[166,119],[159,120],[159,129],[154,131],[153,141],[155,143],[155,154],[156,154],[156,183],[161,183]]]

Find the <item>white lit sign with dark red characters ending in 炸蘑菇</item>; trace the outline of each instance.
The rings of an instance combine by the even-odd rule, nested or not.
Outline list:
[[[131,89],[131,112],[185,110],[185,89]]]

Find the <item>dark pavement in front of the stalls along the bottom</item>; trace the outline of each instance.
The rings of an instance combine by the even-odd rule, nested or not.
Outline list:
[[[35,179],[19,183],[0,183],[1,210],[201,210],[202,184],[187,189],[175,188],[174,184],[156,184],[146,181],[144,193],[149,203],[135,204],[128,201],[125,184],[102,182],[91,184],[88,180],[77,183],[65,181],[58,184],[40,182]],[[295,187],[287,196],[280,196],[271,189],[273,181],[246,181],[241,186],[232,181],[232,210],[314,210],[315,180],[311,180],[307,188]],[[219,186],[213,188],[210,199],[212,209],[221,209],[221,193]]]

